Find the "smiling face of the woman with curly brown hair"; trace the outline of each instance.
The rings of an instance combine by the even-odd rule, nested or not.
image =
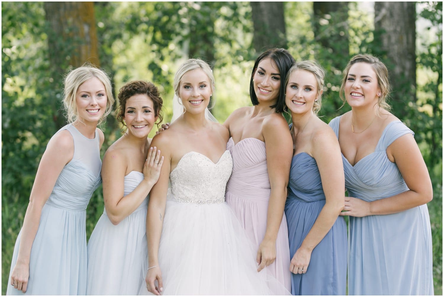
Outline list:
[[[136,94],[125,104],[125,123],[127,133],[139,138],[147,138],[157,117],[153,100],[146,94]]]

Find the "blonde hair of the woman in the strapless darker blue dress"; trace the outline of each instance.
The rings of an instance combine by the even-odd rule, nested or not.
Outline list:
[[[321,95],[322,95],[322,90],[324,89],[325,69],[318,63],[310,60],[296,62],[290,68],[290,70],[287,73],[287,76],[285,77],[285,88],[288,85],[290,75],[297,70],[303,70],[313,73],[314,77],[316,78],[317,98],[313,104],[313,113],[317,115],[317,113],[321,110],[321,105],[322,105]]]

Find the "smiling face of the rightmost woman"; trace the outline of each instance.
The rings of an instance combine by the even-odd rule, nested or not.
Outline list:
[[[345,99],[351,107],[374,106],[381,95],[372,65],[355,63],[350,67],[344,86]]]

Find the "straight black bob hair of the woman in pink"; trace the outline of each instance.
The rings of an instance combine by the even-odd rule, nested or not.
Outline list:
[[[263,52],[262,55],[260,55],[258,59],[256,59],[250,78],[250,99],[253,105],[259,104],[258,97],[254,92],[254,72],[256,72],[256,69],[258,68],[259,62],[267,58],[272,59],[274,63],[276,63],[277,69],[279,70],[279,75],[281,76],[281,87],[279,87],[279,96],[277,97],[276,104],[270,107],[275,108],[277,113],[281,113],[285,110],[285,76],[287,75],[287,72],[289,71],[293,63],[295,63],[296,61],[294,60],[293,56],[284,48],[271,48]]]

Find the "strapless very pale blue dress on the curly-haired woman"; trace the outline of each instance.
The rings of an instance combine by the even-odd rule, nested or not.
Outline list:
[[[123,195],[130,194],[142,180],[142,172],[127,174]],[[146,286],[147,206],[148,196],[118,225],[113,225],[103,210],[88,242],[87,295],[137,295],[140,287]]]

